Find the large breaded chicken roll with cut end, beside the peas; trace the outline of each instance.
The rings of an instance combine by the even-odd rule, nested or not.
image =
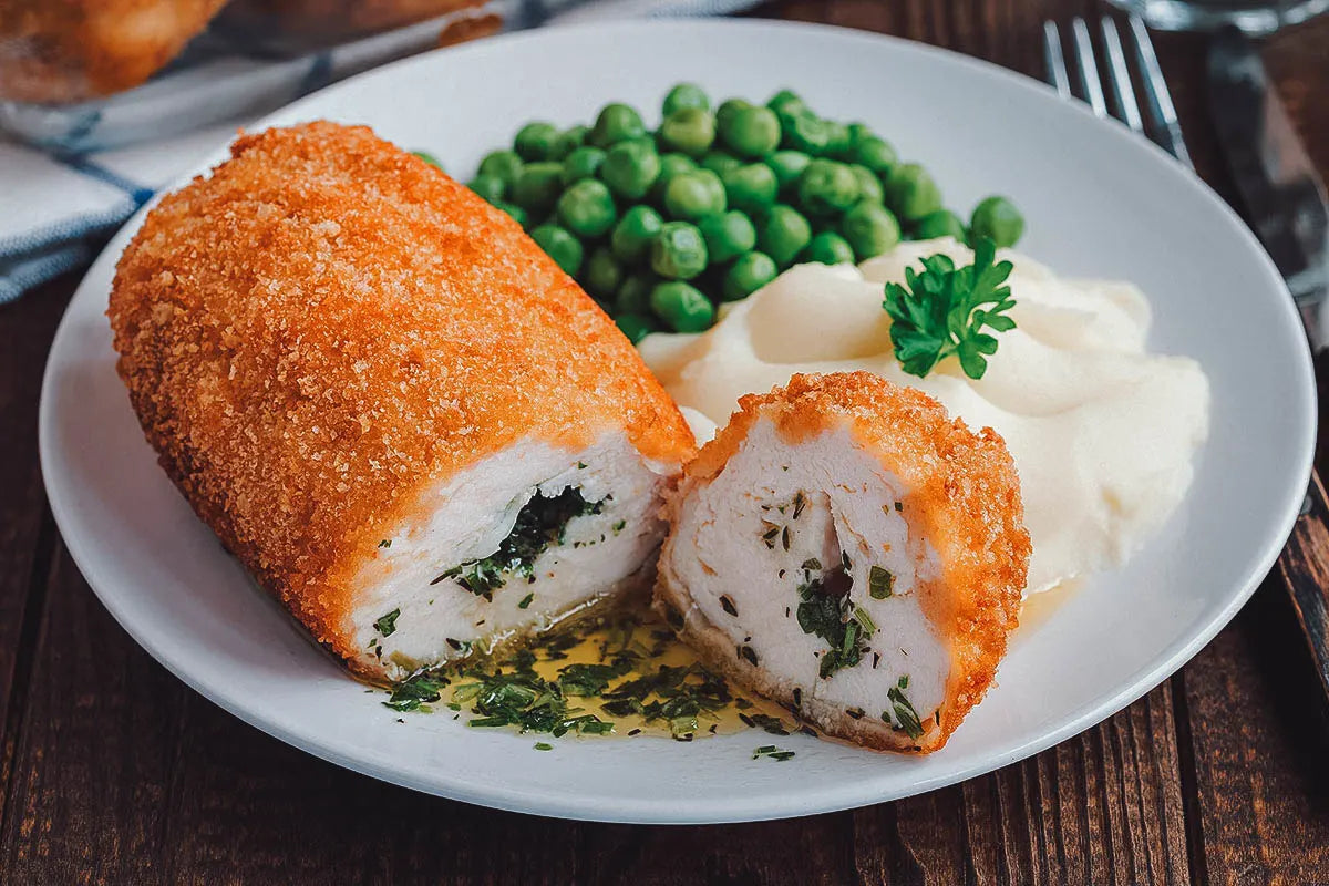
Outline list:
[[[364,128],[241,138],[110,298],[198,515],[356,671],[400,679],[649,580],[676,406],[506,214]]]

